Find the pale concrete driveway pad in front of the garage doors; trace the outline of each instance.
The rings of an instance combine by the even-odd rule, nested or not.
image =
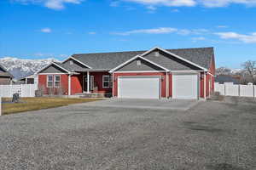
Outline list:
[[[100,101],[79,105],[96,107],[187,111],[191,107],[197,105],[199,102],[199,100],[187,99],[104,99]]]

